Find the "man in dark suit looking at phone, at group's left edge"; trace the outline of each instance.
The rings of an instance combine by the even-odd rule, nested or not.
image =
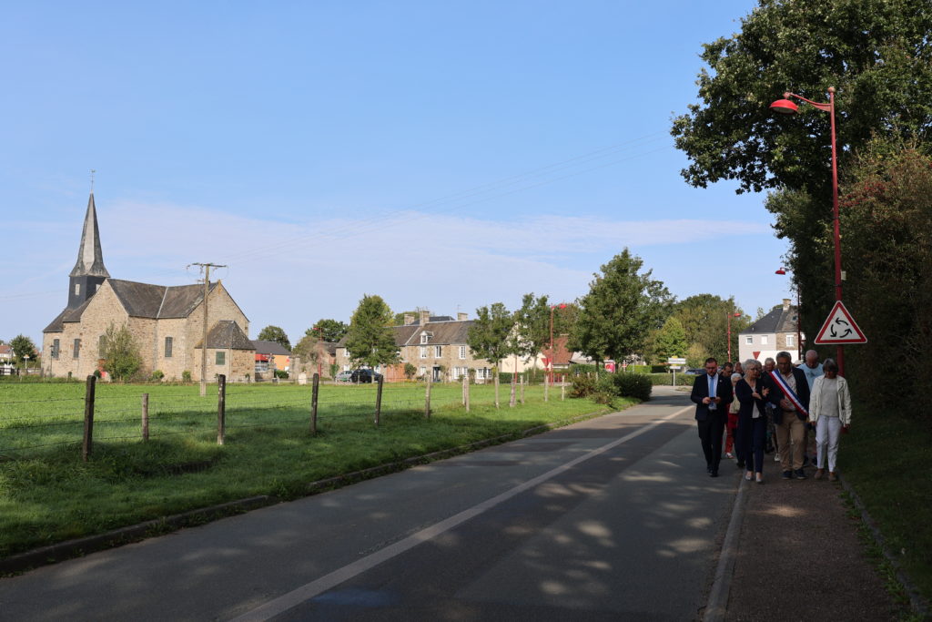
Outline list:
[[[732,403],[732,379],[722,378],[718,372],[719,362],[710,356],[706,359],[706,373],[696,377],[690,394],[696,405],[696,424],[709,477],[719,477],[721,437],[728,420],[728,405]]]

